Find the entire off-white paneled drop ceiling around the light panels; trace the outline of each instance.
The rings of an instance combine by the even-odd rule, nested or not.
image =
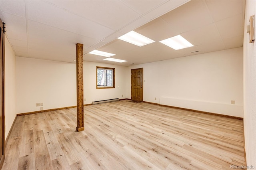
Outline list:
[[[244,0],[0,0],[0,18],[16,56],[136,65],[242,47]],[[117,39],[134,30],[154,43],[138,47]],[[181,35],[194,45],[174,50],[159,41]],[[97,49],[127,60],[105,61]],[[194,52],[198,51],[198,52]]]

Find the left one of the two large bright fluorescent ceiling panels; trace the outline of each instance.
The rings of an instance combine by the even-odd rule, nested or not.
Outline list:
[[[119,40],[123,40],[128,43],[132,43],[134,45],[143,46],[147,45],[149,43],[155,42],[145,36],[142,36],[141,34],[138,34],[134,31],[128,32],[127,34],[124,34],[123,36],[118,38]]]

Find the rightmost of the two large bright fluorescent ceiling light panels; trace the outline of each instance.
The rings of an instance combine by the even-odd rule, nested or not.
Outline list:
[[[164,45],[167,45],[176,50],[194,46],[180,35],[162,40],[160,43],[163,43]]]

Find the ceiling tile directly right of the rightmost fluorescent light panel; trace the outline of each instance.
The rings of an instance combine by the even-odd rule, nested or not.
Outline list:
[[[202,26],[198,29],[184,32],[180,35],[193,45],[200,45],[203,43],[208,43],[209,41],[221,40],[220,34],[215,24]]]

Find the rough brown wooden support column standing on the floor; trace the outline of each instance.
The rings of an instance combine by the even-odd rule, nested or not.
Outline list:
[[[76,130],[84,130],[84,56],[83,44],[76,43]]]

